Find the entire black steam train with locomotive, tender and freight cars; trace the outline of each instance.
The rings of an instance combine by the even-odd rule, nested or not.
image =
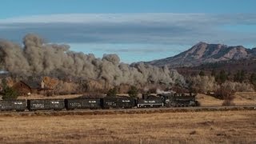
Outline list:
[[[132,109],[150,107],[200,106],[195,95],[185,94],[143,94],[142,98],[127,96],[105,98],[66,98],[2,100],[0,110],[79,110],[79,109]]]

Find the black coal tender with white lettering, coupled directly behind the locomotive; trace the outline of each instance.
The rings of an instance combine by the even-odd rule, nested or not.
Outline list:
[[[142,98],[138,98],[137,107],[161,107],[163,106],[162,98],[156,97],[154,95],[146,96],[143,95]]]

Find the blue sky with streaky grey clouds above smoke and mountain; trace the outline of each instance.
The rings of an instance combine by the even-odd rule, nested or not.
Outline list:
[[[2,0],[0,38],[35,33],[70,50],[150,61],[197,42],[256,47],[254,0]]]

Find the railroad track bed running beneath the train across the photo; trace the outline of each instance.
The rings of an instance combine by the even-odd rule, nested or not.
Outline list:
[[[198,107],[161,107],[134,108],[110,110],[38,110],[38,111],[1,111],[0,116],[58,116],[58,115],[98,115],[98,114],[152,114],[197,111],[228,111],[228,110],[256,110],[256,105],[240,106],[198,106]]]

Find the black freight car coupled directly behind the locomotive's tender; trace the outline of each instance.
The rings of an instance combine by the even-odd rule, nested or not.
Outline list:
[[[121,96],[121,97],[106,97],[101,99],[102,109],[110,108],[132,108],[135,106],[134,98]]]

